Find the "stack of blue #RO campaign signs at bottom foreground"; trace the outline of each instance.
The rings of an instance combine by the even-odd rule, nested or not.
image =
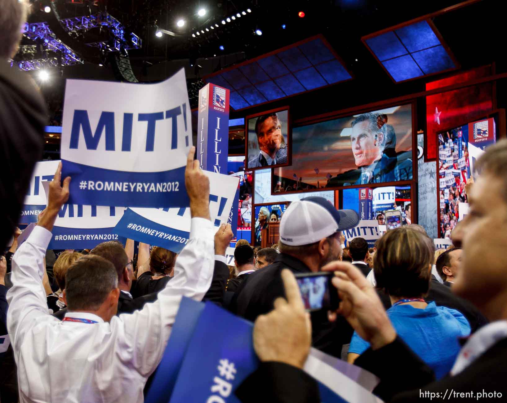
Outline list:
[[[234,390],[259,366],[252,329],[223,308],[184,297],[145,401],[239,403]],[[381,402],[371,393],[378,379],[337,358],[311,349],[303,370],[318,381],[321,401]]]

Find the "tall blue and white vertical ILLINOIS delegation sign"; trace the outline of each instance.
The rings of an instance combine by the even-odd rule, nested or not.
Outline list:
[[[199,90],[196,154],[201,169],[227,175],[229,154],[229,90],[214,84],[206,84]],[[229,213],[234,236],[238,227],[237,197]]]

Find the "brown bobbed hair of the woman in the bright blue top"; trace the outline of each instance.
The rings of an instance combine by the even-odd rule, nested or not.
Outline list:
[[[406,227],[387,231],[379,239],[373,258],[377,287],[393,297],[424,297],[429,290],[433,261],[428,239]]]

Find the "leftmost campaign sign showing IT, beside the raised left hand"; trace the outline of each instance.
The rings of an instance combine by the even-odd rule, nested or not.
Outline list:
[[[53,180],[60,161],[43,161],[35,164],[30,179],[30,187],[26,193],[23,210],[19,222],[23,224],[37,223],[39,213],[46,208],[46,193],[42,182]]]

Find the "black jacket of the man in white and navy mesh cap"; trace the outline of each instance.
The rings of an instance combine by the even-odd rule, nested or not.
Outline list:
[[[249,274],[236,290],[230,310],[250,321],[262,314],[273,310],[273,302],[278,297],[285,296],[283,282],[280,277],[282,269],[290,269],[294,273],[310,273],[310,269],[300,260],[285,253],[280,253],[274,263]],[[328,313],[324,311],[312,312],[312,345],[313,347],[341,357],[343,344],[350,343],[352,327],[343,317],[331,323]]]

